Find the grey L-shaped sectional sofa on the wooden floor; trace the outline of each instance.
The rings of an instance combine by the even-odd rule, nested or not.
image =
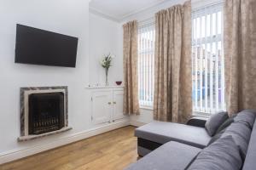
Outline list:
[[[137,153],[143,158],[126,170],[255,170],[255,116],[256,111],[245,110],[224,118],[211,135],[207,119],[138,127]]]

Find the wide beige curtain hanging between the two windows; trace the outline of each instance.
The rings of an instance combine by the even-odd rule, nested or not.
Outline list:
[[[191,2],[155,14],[154,119],[186,122],[192,114]]]

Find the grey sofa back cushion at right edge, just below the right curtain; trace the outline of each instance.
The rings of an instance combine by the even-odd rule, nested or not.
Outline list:
[[[256,116],[256,111],[254,110],[244,110],[238,113],[238,115],[235,117],[235,122],[243,122],[248,127],[253,129],[253,124]]]

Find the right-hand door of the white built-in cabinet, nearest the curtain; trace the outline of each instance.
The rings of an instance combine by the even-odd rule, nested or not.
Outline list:
[[[124,118],[124,91],[113,91],[113,120]]]

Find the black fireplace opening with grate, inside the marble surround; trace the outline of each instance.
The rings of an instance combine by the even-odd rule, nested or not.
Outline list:
[[[41,134],[64,127],[64,94],[30,94],[29,134]]]

